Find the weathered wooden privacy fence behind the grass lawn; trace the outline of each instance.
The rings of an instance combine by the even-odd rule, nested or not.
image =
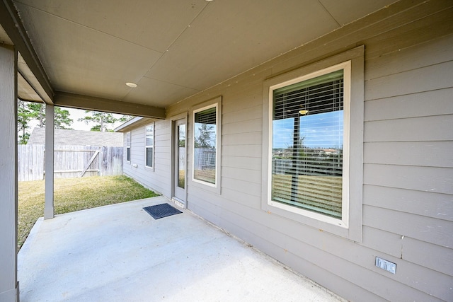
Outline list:
[[[122,175],[122,147],[55,146],[54,177]],[[45,146],[18,145],[18,181],[42,180]]]

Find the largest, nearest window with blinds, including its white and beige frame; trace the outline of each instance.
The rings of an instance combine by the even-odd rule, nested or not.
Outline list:
[[[263,199],[272,214],[362,240],[364,47],[263,86]]]

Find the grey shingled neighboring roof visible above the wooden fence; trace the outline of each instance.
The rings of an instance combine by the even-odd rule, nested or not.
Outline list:
[[[45,144],[45,128],[35,128],[28,144]],[[122,146],[122,133],[55,129],[55,146]]]

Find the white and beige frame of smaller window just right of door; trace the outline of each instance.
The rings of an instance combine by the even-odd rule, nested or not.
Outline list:
[[[210,108],[216,108],[216,155],[215,155],[215,182],[206,182],[204,180],[197,180],[195,179],[195,113],[201,112]],[[205,102],[201,105],[195,106],[192,110],[192,134],[190,135],[190,139],[192,142],[192,173],[191,173],[191,180],[193,181],[194,185],[202,185],[205,190],[212,190],[213,192],[217,192],[220,194],[220,175],[221,175],[221,166],[220,166],[220,158],[221,158],[221,150],[222,150],[222,97],[214,98],[208,102]]]

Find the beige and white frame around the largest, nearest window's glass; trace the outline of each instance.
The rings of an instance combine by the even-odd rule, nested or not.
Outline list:
[[[263,86],[263,198],[262,209],[350,240],[362,240],[363,166],[363,54],[364,47],[338,54],[265,81]],[[342,217],[271,200],[273,91],[343,69],[343,190]]]

